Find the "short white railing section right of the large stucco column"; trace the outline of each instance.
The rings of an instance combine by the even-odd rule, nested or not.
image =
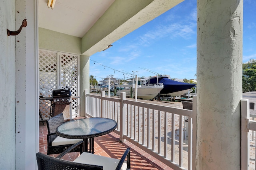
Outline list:
[[[256,131],[256,121],[250,120],[249,100],[241,100],[241,169],[256,170],[256,144],[250,144],[249,131]],[[254,141],[254,140],[252,140]],[[254,158],[253,158],[254,156]],[[250,159],[251,157],[251,159]],[[250,161],[252,160],[252,161]]]

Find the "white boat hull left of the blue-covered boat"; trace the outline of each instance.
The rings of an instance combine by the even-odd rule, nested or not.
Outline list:
[[[143,100],[151,100],[154,97],[156,97],[162,89],[163,89],[163,86],[155,86],[155,87],[148,87],[148,86],[143,87],[142,86],[142,87],[138,87],[137,98],[138,99],[143,99]],[[131,89],[130,88],[117,90],[116,96],[120,96],[120,92],[125,92],[126,97],[131,96]],[[132,89],[132,95],[133,95],[133,97],[135,96],[135,89]]]

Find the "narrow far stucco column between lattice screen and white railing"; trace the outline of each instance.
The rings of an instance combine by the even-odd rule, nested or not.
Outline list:
[[[85,89],[90,89],[90,57],[80,56],[80,115],[85,115]]]

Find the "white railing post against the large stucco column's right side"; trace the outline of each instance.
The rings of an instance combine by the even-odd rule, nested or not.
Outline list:
[[[249,135],[249,100],[241,99],[241,170],[249,170],[250,135]]]

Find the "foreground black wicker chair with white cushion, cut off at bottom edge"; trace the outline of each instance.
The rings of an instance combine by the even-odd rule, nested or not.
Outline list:
[[[130,148],[127,148],[122,158],[114,159],[105,156],[99,156],[88,152],[83,152],[74,162],[62,160],[62,156],[70,152],[70,150],[79,146],[83,142],[80,141],[70,148],[62,152],[56,158],[38,152],[36,154],[38,170],[126,170],[130,169]],[[87,156],[87,157],[86,157]],[[82,157],[82,158],[80,158]],[[126,161],[125,158],[127,157]],[[82,160],[82,162],[80,160]],[[91,160],[94,161],[91,161]]]

